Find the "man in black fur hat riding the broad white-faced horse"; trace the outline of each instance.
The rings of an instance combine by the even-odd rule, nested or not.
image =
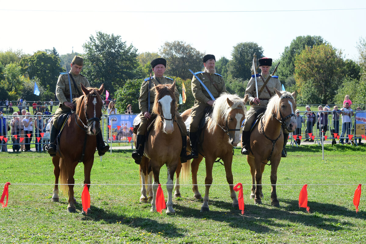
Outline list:
[[[150,104],[149,104],[149,88],[151,89],[155,85],[159,84],[173,84],[173,79],[163,76],[165,68],[167,67],[167,60],[163,58],[157,58],[151,61],[151,67],[154,71],[154,76],[146,78],[143,80],[140,90],[140,97],[138,100],[139,108],[142,112],[140,119],[140,126],[137,130],[136,138],[136,150],[132,152],[132,158],[135,159],[136,164],[140,164],[143,155],[143,150],[145,148],[145,132],[147,129],[148,120],[154,119],[156,115],[150,115],[150,112],[154,105],[155,91],[150,90]],[[175,99],[179,101],[179,92],[177,87],[175,87]],[[149,107],[150,106],[150,107]],[[179,112],[175,111],[175,118],[179,125],[180,132],[182,134],[182,151],[180,153],[180,161],[182,163],[187,162],[187,160],[192,159],[191,155],[187,155],[187,128],[184,124],[182,117],[180,117]]]

